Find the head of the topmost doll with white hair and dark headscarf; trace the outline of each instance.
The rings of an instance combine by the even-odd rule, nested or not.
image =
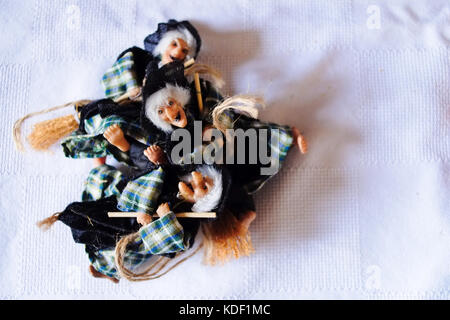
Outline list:
[[[188,21],[169,20],[159,23],[155,33],[144,40],[145,49],[161,64],[173,61],[185,61],[196,58],[200,50],[201,39],[197,30]]]

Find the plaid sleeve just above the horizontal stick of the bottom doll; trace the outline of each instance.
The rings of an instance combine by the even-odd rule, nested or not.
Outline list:
[[[121,211],[153,214],[163,186],[164,171],[153,170],[127,183],[120,194],[117,208]]]

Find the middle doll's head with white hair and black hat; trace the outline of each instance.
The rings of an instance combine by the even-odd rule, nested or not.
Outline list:
[[[188,124],[186,105],[191,99],[184,67],[172,62],[158,69],[155,63],[147,68],[147,81],[143,88],[143,113],[145,123],[165,133]],[[147,126],[148,127],[148,126]]]

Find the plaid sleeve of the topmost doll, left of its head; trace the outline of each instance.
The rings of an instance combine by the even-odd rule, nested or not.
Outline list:
[[[106,71],[102,78],[102,85],[107,98],[118,98],[128,90],[139,87],[133,68],[133,53],[128,52]]]

